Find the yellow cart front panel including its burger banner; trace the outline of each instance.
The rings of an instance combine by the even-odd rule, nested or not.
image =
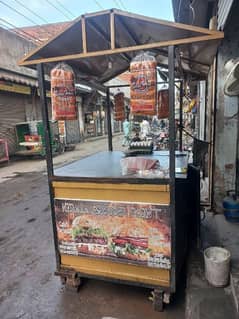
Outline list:
[[[61,266],[152,286],[170,286],[168,185],[54,181]]]

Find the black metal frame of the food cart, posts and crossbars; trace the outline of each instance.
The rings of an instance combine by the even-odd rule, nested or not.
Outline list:
[[[170,287],[160,287],[164,291],[175,292],[176,290],[176,225],[175,225],[175,47],[168,47],[168,59],[169,59],[169,180],[163,180],[165,183],[169,183],[170,185],[170,215],[171,215],[171,273],[170,273]],[[67,179],[67,177],[56,177],[54,176],[53,170],[53,161],[52,161],[52,148],[50,143],[50,127],[49,127],[49,118],[48,118],[48,108],[47,108],[47,99],[46,99],[46,88],[44,81],[44,65],[37,65],[38,71],[38,79],[39,79],[39,89],[40,89],[40,100],[42,106],[42,116],[45,130],[45,140],[46,140],[46,161],[47,161],[47,171],[48,171],[48,185],[49,185],[49,194],[50,194],[50,203],[51,203],[51,217],[52,217],[52,226],[53,226],[53,234],[54,234],[54,246],[56,252],[56,264],[57,270],[60,270],[61,260],[60,253],[58,249],[58,239],[57,239],[57,229],[56,229],[56,220],[55,220],[55,207],[54,207],[54,191],[52,187],[53,180],[72,180],[71,178]],[[161,82],[158,82],[161,83]],[[162,82],[165,83],[165,82]],[[125,87],[128,85],[119,85],[117,87]],[[115,86],[111,86],[113,88]],[[111,105],[110,105],[110,87],[107,88],[107,120],[108,120],[108,148],[109,151],[113,150],[112,146],[112,127],[111,127]],[[75,179],[74,179],[75,180]],[[81,181],[89,181],[89,179],[82,178],[78,179]],[[98,179],[96,179],[98,181]],[[103,182],[109,182],[110,179],[105,179]],[[92,179],[91,179],[92,181]],[[101,179],[102,182],[102,179]],[[112,182],[112,179],[111,179]],[[120,182],[116,180],[114,182]],[[128,182],[127,179],[121,180],[121,182]],[[131,181],[133,182],[133,181]],[[135,180],[134,183],[145,183],[144,179]],[[149,183],[150,181],[148,181]],[[159,180],[156,181],[157,184]],[[90,276],[88,276],[90,277]],[[119,280],[117,280],[119,282]],[[125,282],[122,280],[122,282]],[[132,284],[134,284],[132,282]],[[139,284],[138,284],[139,285]],[[142,285],[153,287],[152,285]]]

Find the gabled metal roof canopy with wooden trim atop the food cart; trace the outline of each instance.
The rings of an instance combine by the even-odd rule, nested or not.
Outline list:
[[[158,65],[167,68],[167,47],[174,45],[180,58],[177,68],[202,78],[222,38],[223,32],[111,9],[77,18],[19,65],[67,61],[78,79],[103,84],[126,71],[140,50],[151,52]]]

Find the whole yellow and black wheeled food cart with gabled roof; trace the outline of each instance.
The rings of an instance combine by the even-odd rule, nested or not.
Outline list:
[[[175,151],[175,75],[205,78],[222,37],[222,32],[113,9],[81,16],[19,63],[37,65],[56,274],[67,286],[77,289],[80,279],[89,277],[148,287],[156,310],[176,291],[190,236],[198,231],[200,195],[198,169],[185,170],[183,154]],[[140,50],[151,51],[168,69],[169,150],[144,157],[147,164],[164,163],[168,171],[161,177],[125,173],[125,154],[113,150],[110,87],[104,83],[127,70]],[[59,61],[74,69],[80,83],[106,93],[108,152],[54,169],[44,64]],[[139,158],[134,159],[137,165]]]

